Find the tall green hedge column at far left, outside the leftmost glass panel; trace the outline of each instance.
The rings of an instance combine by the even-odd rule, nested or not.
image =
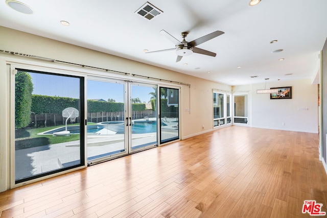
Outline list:
[[[27,127],[31,122],[33,83],[32,77],[24,71],[15,76],[15,128]]]

